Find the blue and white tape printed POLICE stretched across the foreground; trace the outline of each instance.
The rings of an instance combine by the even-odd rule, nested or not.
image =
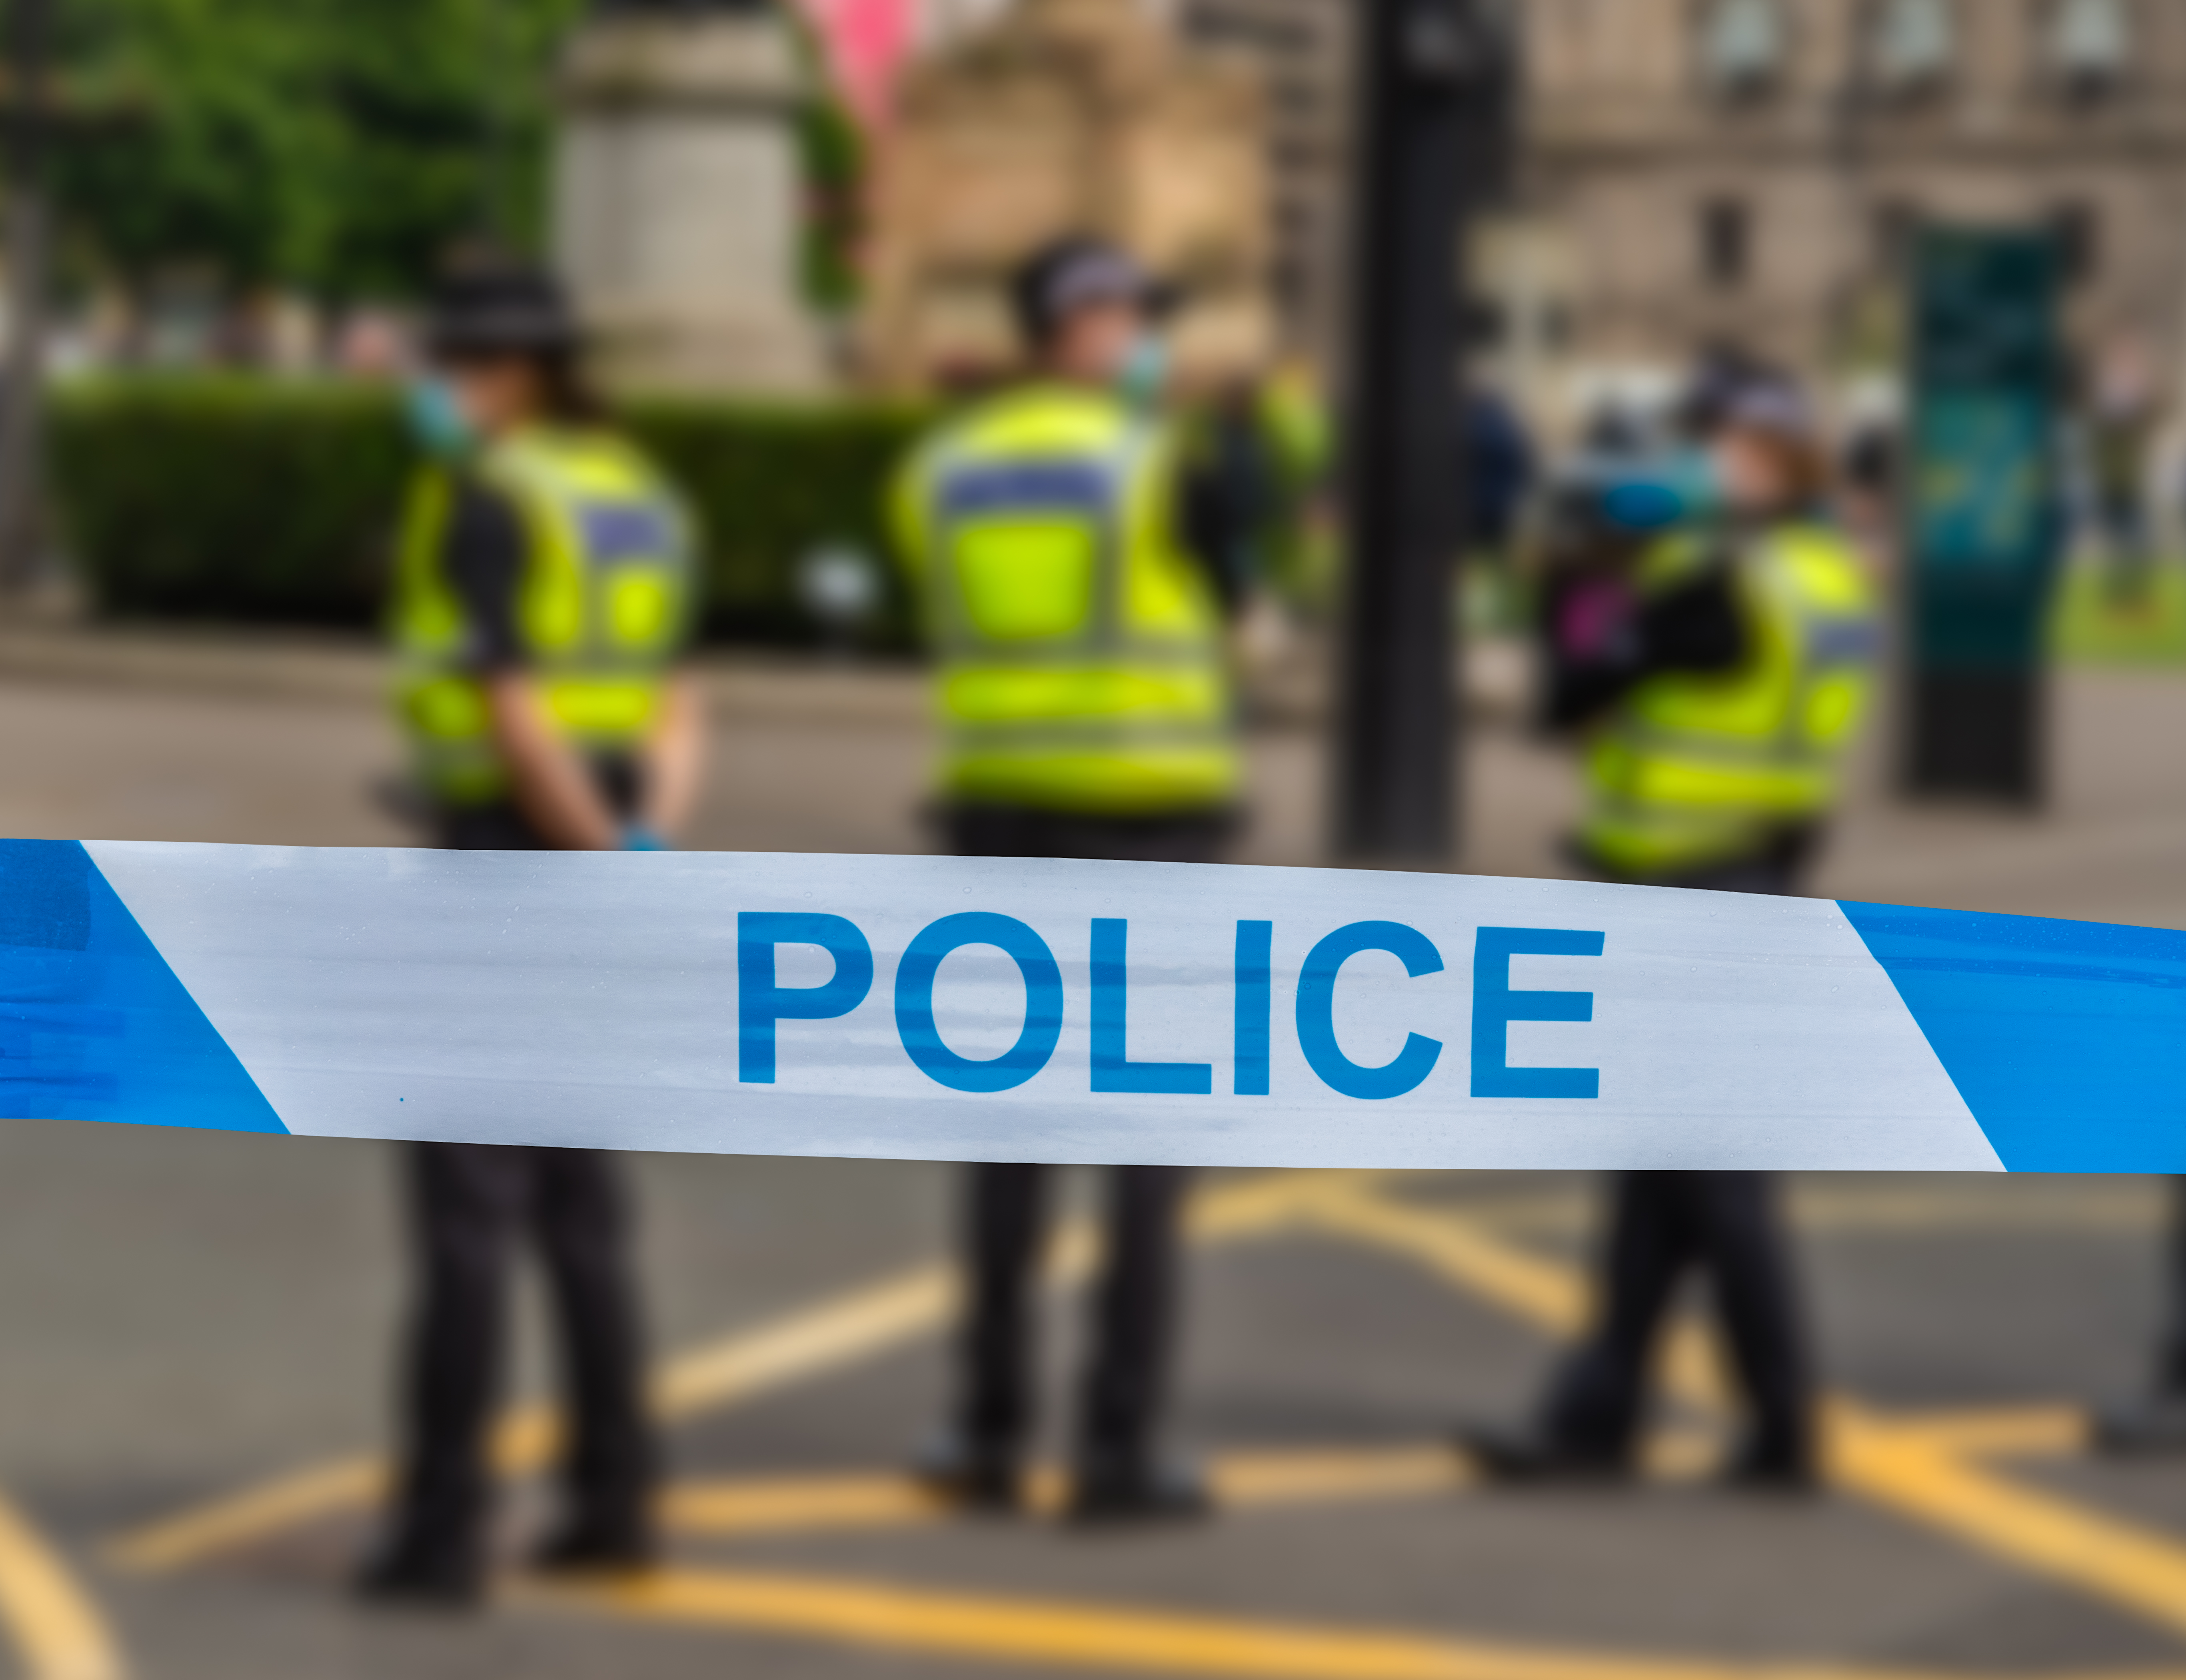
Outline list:
[[[1242,1167],[2186,1171],[2186,933],[1008,859],[0,841],[0,1112]]]

